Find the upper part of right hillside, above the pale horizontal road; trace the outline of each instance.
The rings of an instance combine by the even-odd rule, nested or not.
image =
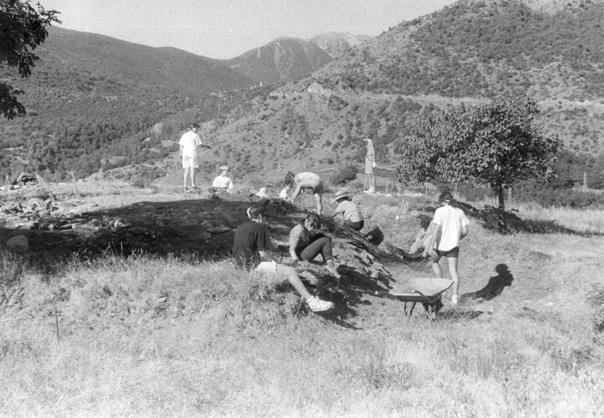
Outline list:
[[[459,2],[403,22],[326,69],[319,82],[389,94],[535,99],[604,95],[604,3],[552,14],[519,1]]]

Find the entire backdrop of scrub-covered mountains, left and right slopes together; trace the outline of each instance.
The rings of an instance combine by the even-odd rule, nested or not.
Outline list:
[[[34,115],[0,125],[0,166],[85,175],[161,161],[205,120],[212,171],[333,170],[357,164],[365,135],[394,167],[420,114],[505,92],[538,100],[536,122],[568,149],[597,154],[603,22],[603,0],[463,0],[377,38],[279,38],[229,60],[51,28],[19,85]]]

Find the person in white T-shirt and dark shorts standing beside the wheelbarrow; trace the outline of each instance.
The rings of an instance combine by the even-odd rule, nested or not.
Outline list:
[[[459,275],[457,274],[457,259],[459,258],[459,241],[468,235],[468,218],[463,210],[451,206],[453,195],[448,190],[440,194],[438,201],[443,205],[434,212],[432,221],[432,237],[424,248],[424,257],[430,257],[432,270],[437,278],[443,278],[438,261],[447,258],[449,273],[453,280],[453,296],[451,303],[457,304],[459,292]]]

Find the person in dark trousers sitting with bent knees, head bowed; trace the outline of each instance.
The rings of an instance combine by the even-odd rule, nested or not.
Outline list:
[[[327,270],[336,279],[340,273],[333,263],[331,251],[331,238],[322,233],[312,233],[321,228],[321,219],[316,213],[309,213],[304,220],[294,226],[289,232],[289,255],[294,263],[297,261],[310,261],[321,254],[323,261],[327,264]]]

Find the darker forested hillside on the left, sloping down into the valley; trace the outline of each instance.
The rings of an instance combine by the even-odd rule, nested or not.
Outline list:
[[[211,120],[219,102],[224,110],[254,93],[250,78],[219,60],[173,48],[51,27],[36,52],[30,78],[0,66],[28,110],[0,123],[2,178],[37,171],[59,180],[164,157],[174,149],[165,141],[190,120]]]

